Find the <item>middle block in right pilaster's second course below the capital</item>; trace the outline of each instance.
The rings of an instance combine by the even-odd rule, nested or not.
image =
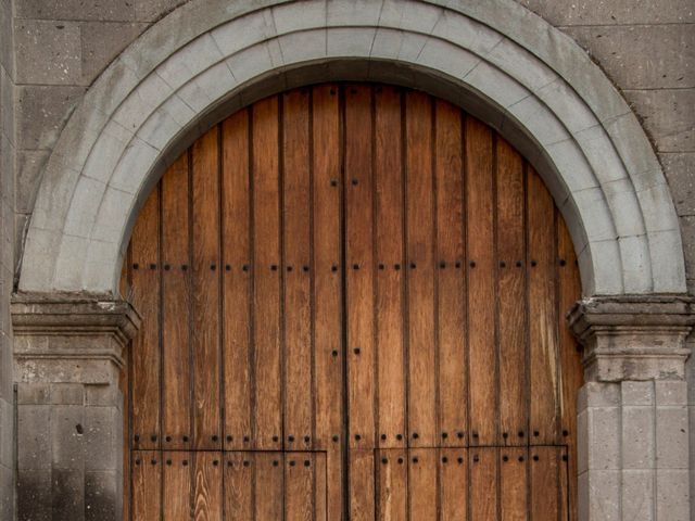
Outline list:
[[[653,469],[654,407],[622,407],[622,468]]]

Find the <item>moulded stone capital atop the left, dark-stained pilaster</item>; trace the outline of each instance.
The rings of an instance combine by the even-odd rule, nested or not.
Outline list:
[[[126,301],[88,293],[17,293],[11,312],[16,378],[25,382],[111,381],[141,321]]]

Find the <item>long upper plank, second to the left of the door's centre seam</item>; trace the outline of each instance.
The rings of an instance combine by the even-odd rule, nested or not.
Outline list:
[[[285,249],[285,418],[294,449],[311,448],[314,379],[311,297],[309,96],[306,89],[283,94],[283,249]]]

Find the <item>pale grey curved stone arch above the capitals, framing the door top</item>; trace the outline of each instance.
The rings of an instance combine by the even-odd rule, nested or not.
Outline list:
[[[327,79],[420,88],[495,127],[547,183],[583,293],[683,293],[666,179],[634,114],[568,37],[511,0],[192,0],[89,89],[48,162],[21,291],[115,293],[168,161],[270,92]]]

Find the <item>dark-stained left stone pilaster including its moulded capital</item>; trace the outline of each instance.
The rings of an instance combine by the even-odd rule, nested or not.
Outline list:
[[[124,354],[140,318],[99,295],[15,295],[18,520],[121,520]]]

